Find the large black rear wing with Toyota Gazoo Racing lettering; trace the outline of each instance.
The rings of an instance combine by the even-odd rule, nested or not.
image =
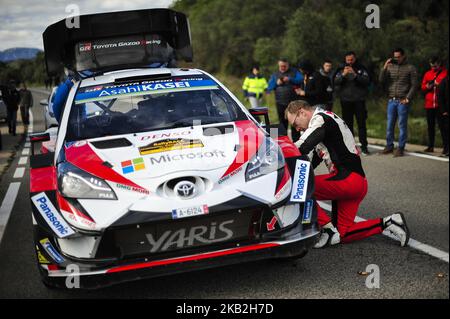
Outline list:
[[[49,75],[64,67],[97,73],[193,59],[189,21],[170,9],[82,15],[79,28],[67,28],[61,20],[42,37]]]

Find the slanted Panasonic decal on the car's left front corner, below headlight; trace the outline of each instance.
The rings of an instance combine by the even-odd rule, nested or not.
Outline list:
[[[31,197],[31,201],[58,237],[64,238],[75,233],[44,192]]]

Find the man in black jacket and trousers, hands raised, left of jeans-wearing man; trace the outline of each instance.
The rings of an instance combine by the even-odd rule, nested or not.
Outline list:
[[[355,52],[348,52],[345,55],[345,65],[336,70],[334,85],[341,98],[342,118],[352,134],[354,134],[353,118],[356,117],[361,151],[365,155],[369,154],[366,128],[366,98],[369,84],[367,69],[357,61]]]

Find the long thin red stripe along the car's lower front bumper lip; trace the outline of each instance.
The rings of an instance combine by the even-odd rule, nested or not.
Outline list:
[[[177,264],[177,263],[182,263],[182,262],[187,262],[187,261],[195,261],[195,260],[202,260],[202,259],[208,259],[208,258],[215,258],[215,257],[245,253],[245,252],[249,252],[249,251],[267,249],[267,248],[272,248],[272,247],[277,247],[277,246],[280,246],[280,244],[275,244],[275,243],[258,244],[258,245],[252,245],[252,246],[241,247],[241,248],[233,248],[233,249],[224,250],[224,251],[217,251],[217,252],[212,252],[212,253],[193,255],[193,256],[189,256],[189,257],[180,257],[180,258],[173,258],[173,259],[150,261],[147,263],[140,263],[140,264],[111,268],[111,269],[107,270],[106,273],[116,273],[116,272],[122,272],[122,271],[128,271],[128,270],[137,270],[137,269],[142,269],[142,268],[158,267],[158,266]]]

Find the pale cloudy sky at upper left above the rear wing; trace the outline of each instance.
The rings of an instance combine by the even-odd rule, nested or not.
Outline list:
[[[89,14],[167,8],[173,2],[174,0],[0,0],[0,51],[14,47],[43,50],[42,33],[45,28],[70,16],[72,8],[78,9],[80,14]]]

